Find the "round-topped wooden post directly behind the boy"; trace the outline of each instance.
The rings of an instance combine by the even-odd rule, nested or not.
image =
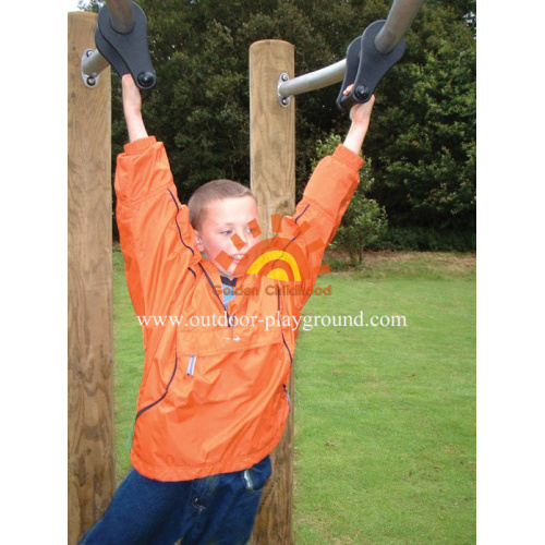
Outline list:
[[[280,40],[263,40],[250,47],[250,166],[251,187],[257,197],[264,239],[272,235],[270,215],[295,211],[295,105],[282,108],[277,83],[286,72],[293,77],[294,48]],[[262,498],[252,543],[292,543],[293,508],[293,371],[292,405],[286,432],[271,456],[272,477]]]

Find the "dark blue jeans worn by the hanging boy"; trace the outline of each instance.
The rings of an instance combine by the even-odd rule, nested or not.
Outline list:
[[[155,481],[133,469],[80,545],[245,545],[270,472],[268,456],[247,470],[193,481]]]

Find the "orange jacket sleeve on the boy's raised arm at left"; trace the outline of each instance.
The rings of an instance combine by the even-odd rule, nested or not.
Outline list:
[[[201,254],[162,143],[149,136],[126,144],[118,156],[114,189],[134,310],[137,315],[166,315],[174,290]]]

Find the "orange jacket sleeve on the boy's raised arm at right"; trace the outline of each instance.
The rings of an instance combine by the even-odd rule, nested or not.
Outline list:
[[[282,218],[282,237],[290,238],[290,244],[296,244],[298,253],[306,258],[306,275],[302,278],[305,292],[316,282],[324,252],[360,183],[359,171],[363,162],[343,145],[337,146],[332,155],[316,166],[295,214]],[[296,306],[301,308],[307,299],[308,294],[302,295]]]

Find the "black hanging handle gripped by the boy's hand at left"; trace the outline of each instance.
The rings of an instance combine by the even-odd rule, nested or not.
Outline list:
[[[111,24],[107,4],[98,12],[95,43],[100,55],[113,66],[120,77],[131,73],[142,90],[152,89],[157,77],[147,47],[147,20],[142,8],[132,2],[134,26],[128,33],[117,32]]]

